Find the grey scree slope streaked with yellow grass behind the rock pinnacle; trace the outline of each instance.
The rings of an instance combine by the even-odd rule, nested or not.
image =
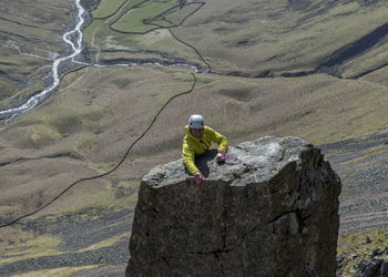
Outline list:
[[[346,235],[361,232],[367,236],[371,229],[388,227],[387,144],[388,133],[379,133],[320,145],[326,160],[343,181],[339,209],[341,253],[346,247],[353,247],[346,245]],[[96,219],[80,219],[91,218],[93,214],[95,211],[86,211],[74,214],[73,218],[59,219],[58,227],[50,235],[61,237],[57,247],[60,254],[3,263],[0,265],[1,275],[50,276],[63,270],[71,276],[123,276],[130,257],[127,246],[133,211],[122,208]],[[22,228],[44,233],[44,220],[29,220]],[[101,242],[106,242],[106,245],[101,245]],[[1,259],[4,258],[6,255],[1,255]]]

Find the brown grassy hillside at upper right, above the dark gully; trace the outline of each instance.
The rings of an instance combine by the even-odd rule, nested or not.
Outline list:
[[[255,75],[266,70],[276,74],[315,70],[336,50],[387,23],[382,1],[370,6],[360,1],[310,2],[295,10],[280,0],[244,4],[206,1],[174,32],[197,48],[215,72]],[[379,60],[368,63],[375,66]]]

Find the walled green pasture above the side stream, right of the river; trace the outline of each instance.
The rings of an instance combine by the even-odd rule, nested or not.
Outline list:
[[[141,2],[144,1],[127,1],[118,12],[112,13],[108,19],[94,20],[84,30],[84,40],[91,49],[94,49],[93,51],[99,53],[96,60],[108,62],[118,59],[153,59],[172,62],[172,58],[177,58],[206,68],[198,54],[173,38],[167,29],[175,23],[181,23],[198,6],[187,4],[181,10],[171,10],[176,2],[145,1],[140,4]],[[163,13],[163,11],[167,12]],[[155,18],[161,13],[163,13],[162,18]],[[149,22],[152,19],[154,20]],[[122,29],[119,30],[119,27]],[[150,32],[153,29],[157,30]],[[123,31],[145,33],[122,33]]]

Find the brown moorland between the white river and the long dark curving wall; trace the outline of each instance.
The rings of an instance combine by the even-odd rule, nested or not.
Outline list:
[[[2,217],[31,212],[74,181],[112,168],[166,100],[191,85],[191,74],[176,70],[93,69],[75,86],[7,126],[1,163],[39,160],[0,167]],[[82,206],[78,199],[83,194],[106,186],[103,181],[89,185],[78,186],[84,192],[74,189],[68,201]]]

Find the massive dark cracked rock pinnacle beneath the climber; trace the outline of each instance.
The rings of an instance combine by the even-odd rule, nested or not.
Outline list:
[[[144,176],[126,276],[335,276],[340,181],[320,151],[263,137]]]

